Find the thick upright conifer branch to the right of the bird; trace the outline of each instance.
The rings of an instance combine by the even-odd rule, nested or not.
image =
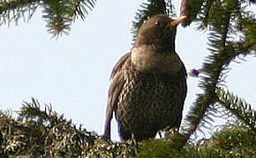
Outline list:
[[[239,3],[234,4],[233,0],[215,1],[211,7],[208,23],[211,31],[208,38],[210,55],[203,63],[203,68],[201,68],[203,75],[200,77],[200,87],[204,90],[204,93],[199,95],[191,112],[185,118],[186,123],[191,125],[190,128],[186,129],[187,138],[195,132],[200,122],[206,122],[205,119],[210,118],[210,116],[207,117],[208,108],[210,106],[214,107],[218,101],[215,92],[225,79],[230,61],[252,48],[243,47],[246,40],[235,42],[230,39],[230,35],[237,33],[234,31],[234,25],[237,24],[234,23],[234,20],[237,19],[236,13],[240,9],[240,5]]]

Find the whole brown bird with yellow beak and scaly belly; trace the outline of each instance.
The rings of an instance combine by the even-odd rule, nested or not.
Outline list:
[[[179,127],[187,93],[186,69],[175,51],[177,19],[159,14],[140,27],[131,52],[110,75],[103,136],[110,140],[113,115],[120,140],[147,140],[165,127]]]

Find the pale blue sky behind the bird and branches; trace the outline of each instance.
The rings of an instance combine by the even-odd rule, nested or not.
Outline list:
[[[53,110],[82,124],[88,131],[103,133],[109,75],[118,59],[132,48],[132,20],[137,1],[98,1],[85,21],[76,20],[70,35],[51,39],[41,10],[28,23],[0,27],[0,109],[19,111],[23,101],[38,99]],[[174,1],[178,15],[180,1]],[[195,25],[177,28],[176,51],[189,72],[201,68],[207,51],[207,32]],[[255,58],[232,62],[226,87],[256,103]],[[188,76],[184,116],[192,106],[199,78]],[[221,122],[222,123],[222,122]],[[118,140],[112,121],[112,139]]]

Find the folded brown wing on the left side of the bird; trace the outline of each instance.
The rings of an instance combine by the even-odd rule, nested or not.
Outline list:
[[[104,128],[104,136],[110,139],[110,123],[113,118],[113,112],[117,109],[117,97],[119,96],[120,91],[124,85],[124,78],[121,73],[124,62],[130,57],[131,53],[124,54],[117,61],[116,66],[113,68],[112,73],[110,75],[110,80],[112,80],[111,85],[109,87],[109,100],[107,104],[106,111],[106,120],[105,120],[105,128]]]

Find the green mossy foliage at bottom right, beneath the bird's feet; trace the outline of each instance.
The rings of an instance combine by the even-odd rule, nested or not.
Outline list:
[[[215,133],[200,145],[182,146],[185,137],[170,135],[167,140],[147,140],[140,145],[139,158],[219,158],[255,157],[255,134],[246,127],[231,127]]]

